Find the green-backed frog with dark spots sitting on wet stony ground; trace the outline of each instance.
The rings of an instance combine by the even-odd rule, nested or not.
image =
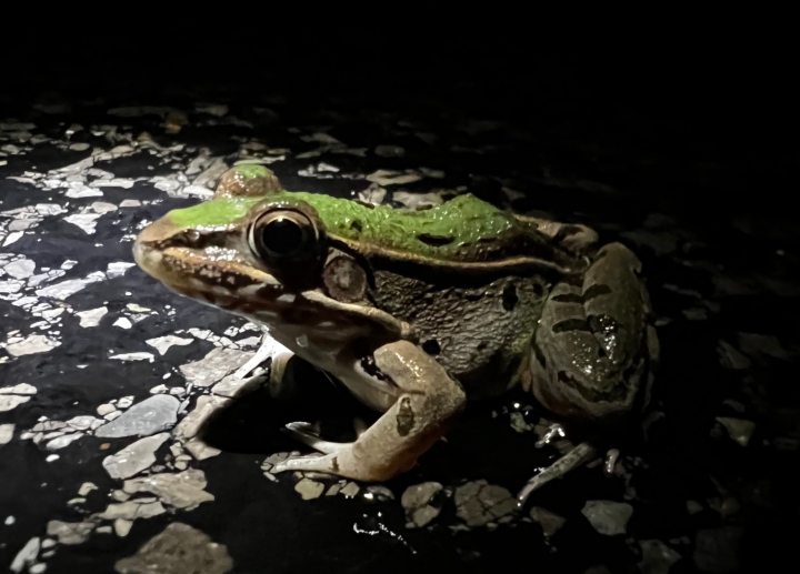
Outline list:
[[[352,442],[289,423],[313,453],[273,473],[384,482],[444,439],[468,401],[519,386],[561,420],[601,426],[641,404],[659,360],[641,262],[598,238],[471,193],[373,205],[287,191],[263,164],[240,163],[209,200],[144,226],[133,256],[170,290],[256,323],[377,413]],[[579,444],[520,501],[594,455]]]

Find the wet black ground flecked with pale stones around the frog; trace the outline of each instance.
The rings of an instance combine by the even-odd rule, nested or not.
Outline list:
[[[752,194],[733,197],[780,165],[634,110],[604,128],[568,103],[516,121],[424,98],[242,100],[199,90],[4,102],[0,564],[723,573],[793,555],[797,239],[788,220],[749,209]],[[290,190],[398,207],[469,191],[629,245],[661,366],[648,412],[609,444],[617,464],[596,461],[514,512],[511,493],[571,437],[542,444],[552,417],[512,392],[471,406],[447,443],[384,485],[271,474],[302,450],[283,423],[336,432],[368,414],[303,365],[302,401],[231,376],[259,331],[170,293],[130,252],[143,225],[208,198],[241,159]],[[694,201],[702,190],[710,205]]]

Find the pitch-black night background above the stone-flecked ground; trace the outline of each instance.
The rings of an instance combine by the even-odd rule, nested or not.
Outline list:
[[[240,11],[152,16],[100,23],[50,14],[36,30],[9,20],[0,104],[56,94],[258,104],[280,92],[298,107],[507,120],[566,147],[641,155],[621,174],[629,193],[641,195],[647,182],[652,197],[638,201],[667,211],[687,202],[696,218],[798,240],[792,214],[776,208],[788,204],[798,160],[797,42],[779,14],[764,26],[756,14],[720,14],[693,30],[648,20],[634,34],[597,22],[590,36],[547,21],[437,27],[389,12],[360,26],[339,16],[324,30]]]

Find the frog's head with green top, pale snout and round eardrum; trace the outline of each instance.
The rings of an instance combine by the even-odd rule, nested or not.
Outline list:
[[[309,195],[280,190],[262,165],[236,167],[213,199],[144,228],[136,262],[178,293],[292,340],[407,336],[406,323],[368,303],[364,269],[329,241]]]

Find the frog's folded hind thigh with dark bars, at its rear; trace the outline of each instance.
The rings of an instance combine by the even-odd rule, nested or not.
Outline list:
[[[603,417],[631,406],[647,376],[649,301],[640,266],[628,248],[611,243],[582,282],[553,288],[531,355],[533,393],[551,411]]]

